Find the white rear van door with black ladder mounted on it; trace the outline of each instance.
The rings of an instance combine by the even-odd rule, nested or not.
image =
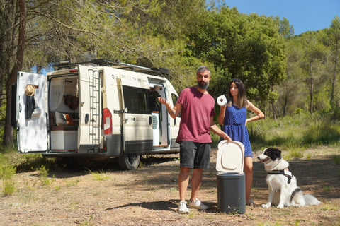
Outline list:
[[[98,69],[79,65],[79,153],[98,153],[101,143],[101,78]]]

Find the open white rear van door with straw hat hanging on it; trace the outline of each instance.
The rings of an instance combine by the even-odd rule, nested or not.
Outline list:
[[[47,103],[44,75],[18,72],[16,124],[20,153],[47,151]]]

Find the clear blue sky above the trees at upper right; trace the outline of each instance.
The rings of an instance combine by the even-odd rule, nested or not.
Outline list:
[[[340,0],[225,0],[239,13],[287,18],[294,35],[329,28],[335,16],[340,17]]]

